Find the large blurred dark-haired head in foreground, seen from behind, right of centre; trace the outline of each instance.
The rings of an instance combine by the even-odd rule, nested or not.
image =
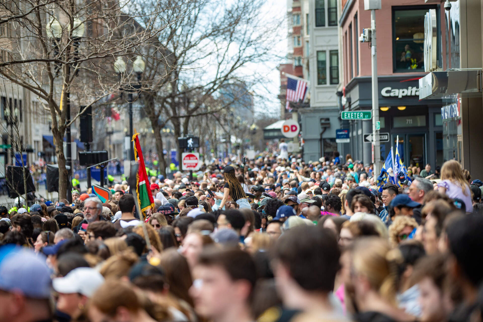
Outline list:
[[[315,225],[291,228],[278,239],[272,255],[282,298],[294,290],[324,295],[333,290],[341,252],[331,230]]]

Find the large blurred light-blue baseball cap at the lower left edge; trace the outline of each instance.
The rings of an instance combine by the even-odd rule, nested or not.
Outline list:
[[[18,292],[29,298],[50,297],[50,269],[45,257],[18,246],[0,250],[0,289]]]

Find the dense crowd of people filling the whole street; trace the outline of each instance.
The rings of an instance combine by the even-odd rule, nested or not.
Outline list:
[[[483,321],[483,182],[266,155],[0,206],[0,322]],[[127,183],[127,182],[123,182]]]

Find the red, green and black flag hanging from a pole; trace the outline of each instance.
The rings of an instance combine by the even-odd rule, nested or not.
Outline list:
[[[146,218],[145,211],[154,207],[153,194],[149,187],[149,178],[144,166],[144,158],[142,157],[141,144],[139,143],[139,133],[132,136],[134,141],[134,158],[138,160],[139,170],[136,175],[136,194],[138,195],[139,208],[141,209],[142,219]]]

